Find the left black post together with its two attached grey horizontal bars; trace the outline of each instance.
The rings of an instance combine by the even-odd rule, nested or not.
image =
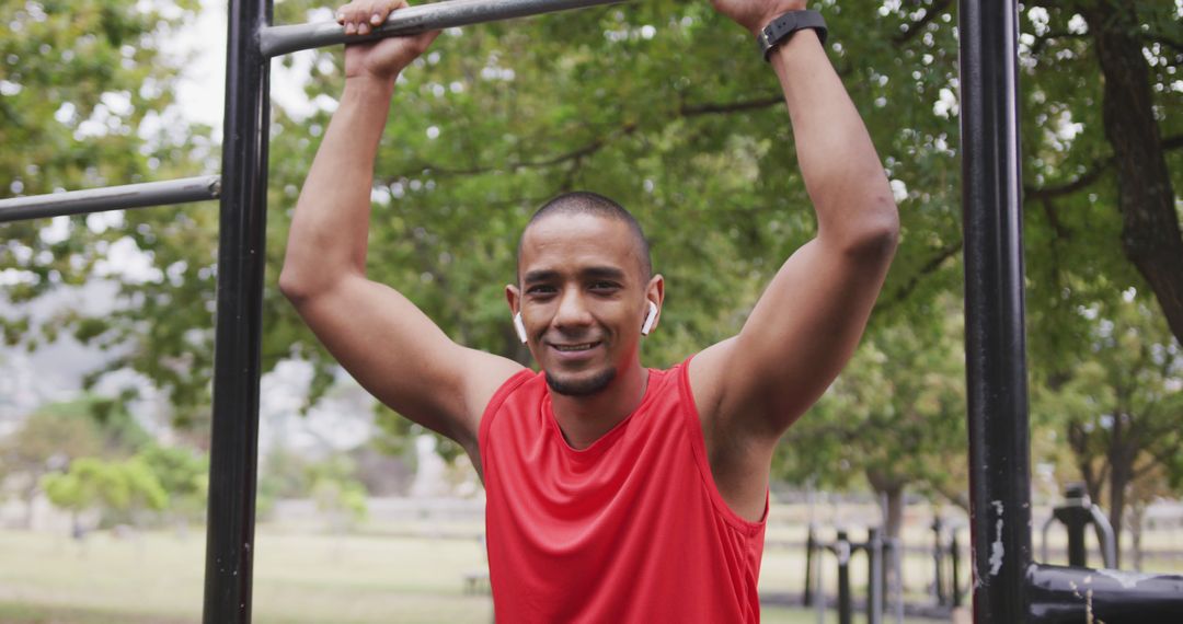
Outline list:
[[[401,9],[373,40],[626,0],[450,0]],[[251,622],[265,261],[270,59],[344,43],[336,22],[271,26],[272,0],[231,0],[222,176],[0,201],[0,222],[221,200],[205,624]]]

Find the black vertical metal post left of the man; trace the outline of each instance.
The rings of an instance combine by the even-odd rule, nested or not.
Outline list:
[[[251,622],[271,0],[231,0],[228,21],[205,624]]]

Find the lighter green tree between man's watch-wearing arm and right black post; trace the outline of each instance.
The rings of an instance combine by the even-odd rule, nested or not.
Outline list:
[[[858,477],[886,499],[885,532],[899,538],[909,489],[968,505],[962,319],[946,298],[923,326],[881,327],[829,391],[786,435],[776,473],[846,488]]]

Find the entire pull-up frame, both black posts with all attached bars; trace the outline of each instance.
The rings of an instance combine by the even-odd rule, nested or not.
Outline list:
[[[424,17],[414,28],[616,1],[452,0],[419,7]],[[1040,565],[1032,559],[1017,2],[959,0],[958,6],[975,622],[1178,622],[1183,613],[1181,576],[1091,571]],[[189,187],[190,181],[174,181],[0,202],[0,221],[12,221],[214,197],[221,201],[206,624],[251,620],[270,59],[343,40],[332,26],[289,30],[273,27],[271,21],[272,0],[230,2],[220,178],[196,190]],[[397,22],[397,15],[392,21]],[[397,27],[388,24],[374,35],[394,35]]]

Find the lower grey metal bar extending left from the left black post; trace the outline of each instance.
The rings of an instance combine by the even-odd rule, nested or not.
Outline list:
[[[0,200],[0,223],[218,199],[220,176],[186,177]]]

